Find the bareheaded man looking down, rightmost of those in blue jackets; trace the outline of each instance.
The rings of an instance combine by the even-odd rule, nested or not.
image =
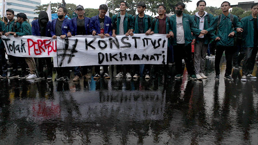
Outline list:
[[[101,38],[105,36],[112,35],[112,23],[111,18],[107,17],[105,14],[107,13],[107,5],[100,5],[99,6],[99,14],[96,16],[91,17],[89,31],[92,33],[93,36],[98,35]],[[109,79],[110,76],[108,75],[108,66],[103,65],[104,71],[104,78]],[[95,75],[93,79],[100,78],[100,67],[99,65],[95,65]]]

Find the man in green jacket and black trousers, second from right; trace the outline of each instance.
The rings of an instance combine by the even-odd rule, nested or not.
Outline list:
[[[234,54],[234,36],[237,32],[241,32],[242,29],[240,28],[240,23],[236,15],[232,15],[228,12],[230,9],[230,3],[224,1],[221,4],[222,14],[218,15],[221,16],[219,19],[220,23],[218,24],[218,16],[214,18],[214,24],[212,25],[213,30],[217,29],[217,34],[215,35],[216,42],[216,57],[215,57],[215,80],[220,79],[220,59],[223,55],[225,50],[225,57],[226,57],[226,72],[224,79],[227,80],[234,80],[230,75],[232,71],[232,56]],[[231,16],[230,16],[231,15]],[[230,18],[231,17],[231,18]],[[233,21],[231,21],[233,19]],[[213,31],[211,30],[211,31]]]

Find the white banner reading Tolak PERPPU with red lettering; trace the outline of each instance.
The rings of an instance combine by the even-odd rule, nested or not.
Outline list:
[[[50,37],[1,36],[8,55],[18,57],[54,57],[56,56],[56,40]]]

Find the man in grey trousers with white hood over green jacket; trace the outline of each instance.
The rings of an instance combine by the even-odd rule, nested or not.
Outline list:
[[[196,21],[196,24],[200,30],[210,31],[210,24],[213,22],[213,15],[207,13],[205,10],[206,2],[204,0],[200,0],[197,2],[197,9],[192,18]],[[208,44],[210,43],[210,35],[214,35],[214,33],[206,34],[202,37],[198,37],[197,35],[193,35],[194,44],[194,69],[196,78],[202,79],[207,78],[204,75],[205,68],[205,57],[208,49]]]

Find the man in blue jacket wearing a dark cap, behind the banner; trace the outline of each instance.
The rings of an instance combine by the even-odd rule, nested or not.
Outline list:
[[[83,14],[85,13],[83,6],[78,5],[76,7],[76,11],[78,16],[74,17],[71,19],[71,23],[73,26],[73,33],[72,35],[90,35],[89,33],[89,23],[90,23],[90,18],[84,17]],[[83,78],[89,79],[91,78],[90,76],[87,75],[88,73],[88,66],[83,66]],[[73,81],[78,81],[80,79],[80,67],[75,66],[74,67],[74,78]]]

